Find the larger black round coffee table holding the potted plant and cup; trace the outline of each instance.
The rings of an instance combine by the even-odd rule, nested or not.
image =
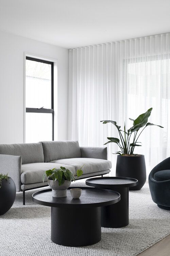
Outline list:
[[[70,187],[74,188],[74,187]],[[120,194],[107,189],[82,188],[79,199],[52,197],[45,189],[32,195],[33,201],[51,207],[51,240],[65,246],[86,246],[101,240],[101,207],[120,201]]]

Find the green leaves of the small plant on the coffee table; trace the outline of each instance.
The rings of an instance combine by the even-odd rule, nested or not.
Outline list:
[[[83,174],[82,167],[79,170],[77,170],[76,174],[73,174],[72,171],[62,166],[60,167],[60,169],[53,168],[52,170],[47,170],[43,175],[43,182],[46,176],[50,180],[53,180],[53,181],[57,180],[59,186],[62,185],[65,182],[65,180],[75,181],[75,176],[80,177]]]

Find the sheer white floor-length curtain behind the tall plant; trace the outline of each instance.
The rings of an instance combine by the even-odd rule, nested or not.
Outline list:
[[[130,128],[139,114],[153,107],[150,123],[140,137],[147,172],[170,156],[170,33],[70,50],[69,139],[82,146],[102,146],[117,137],[114,120]],[[116,167],[117,145],[108,146]]]

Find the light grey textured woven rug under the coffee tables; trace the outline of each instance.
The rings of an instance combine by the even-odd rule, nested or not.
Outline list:
[[[102,240],[91,246],[57,245],[50,240],[50,208],[32,202],[35,191],[26,191],[25,206],[17,193],[13,207],[0,216],[0,256],[135,256],[170,234],[170,213],[153,203],[146,184],[130,191],[129,226],[102,228]]]

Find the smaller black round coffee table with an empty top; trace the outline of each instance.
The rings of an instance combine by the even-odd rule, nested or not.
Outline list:
[[[86,180],[86,185],[117,191],[120,201],[101,209],[101,225],[107,228],[119,228],[129,224],[129,187],[136,186],[138,181],[126,177],[98,177]]]

